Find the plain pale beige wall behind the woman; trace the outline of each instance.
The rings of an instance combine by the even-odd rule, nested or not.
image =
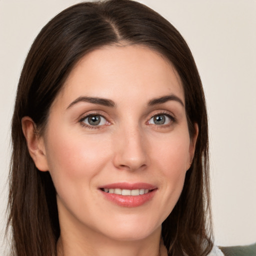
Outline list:
[[[6,221],[9,127],[22,63],[41,27],[77,2],[0,0],[0,243]],[[209,114],[216,243],[255,242],[256,0],[140,2],[181,32],[201,75]]]

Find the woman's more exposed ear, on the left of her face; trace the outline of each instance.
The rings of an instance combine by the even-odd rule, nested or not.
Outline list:
[[[36,125],[33,120],[24,116],[21,119],[22,131],[26,138],[26,144],[31,158],[37,169],[41,171],[48,170],[44,141],[42,137],[36,133]]]

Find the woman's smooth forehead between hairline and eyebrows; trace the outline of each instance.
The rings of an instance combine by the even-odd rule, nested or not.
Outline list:
[[[112,45],[85,54],[57,98],[89,95],[124,100],[139,94],[147,100],[168,93],[184,101],[180,77],[165,57],[144,45]]]

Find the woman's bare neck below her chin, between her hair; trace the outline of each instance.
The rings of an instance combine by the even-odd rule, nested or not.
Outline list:
[[[115,240],[100,234],[89,236],[61,232],[57,256],[159,256],[160,228],[139,240]]]

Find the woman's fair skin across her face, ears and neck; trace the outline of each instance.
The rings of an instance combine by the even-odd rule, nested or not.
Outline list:
[[[148,105],[169,95],[176,98]],[[110,99],[115,106],[72,103],[82,96]],[[93,126],[88,114],[104,117]],[[155,123],[157,116],[164,116],[164,124]],[[181,193],[197,137],[189,137],[173,66],[141,45],[96,49],[71,71],[43,136],[33,127],[23,117],[30,155],[39,170],[50,172],[57,191],[58,255],[158,255],[161,223]],[[157,189],[150,201],[123,207],[99,190],[115,182]]]

